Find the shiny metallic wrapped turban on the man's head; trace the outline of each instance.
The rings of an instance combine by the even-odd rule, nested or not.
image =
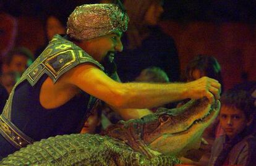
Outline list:
[[[67,35],[83,40],[126,31],[129,17],[114,4],[77,6],[67,20]]]

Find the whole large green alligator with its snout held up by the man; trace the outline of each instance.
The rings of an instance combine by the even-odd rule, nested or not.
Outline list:
[[[2,159],[0,165],[175,165],[199,147],[220,101],[190,100],[177,109],[119,121],[101,135],[72,134],[42,139]]]

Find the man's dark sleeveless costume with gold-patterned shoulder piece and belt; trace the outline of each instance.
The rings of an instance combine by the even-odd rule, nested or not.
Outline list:
[[[27,144],[32,144],[34,140],[76,132],[77,128],[80,128],[79,123],[84,123],[84,120],[90,115],[96,98],[90,94],[81,93],[58,108],[45,109],[39,102],[40,89],[47,77],[56,83],[61,75],[68,70],[87,62],[104,70],[99,62],[79,46],[62,36],[55,35],[45,51],[27,68],[14,85],[0,115],[1,136],[12,146],[20,149]],[[36,125],[34,125],[35,123]],[[54,127],[58,130],[53,130]],[[2,144],[7,143],[2,141],[0,146]],[[3,150],[0,148],[0,151]],[[8,153],[2,152],[2,154]],[[2,154],[1,156],[3,156]]]

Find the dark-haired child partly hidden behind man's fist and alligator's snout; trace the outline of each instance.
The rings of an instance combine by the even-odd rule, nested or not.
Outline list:
[[[190,60],[186,67],[185,81],[198,80],[201,77],[211,77],[222,83],[221,67],[218,60],[213,56],[199,54]],[[183,78],[184,79],[184,78]],[[221,86],[223,89],[223,86]],[[185,104],[189,99],[179,102],[177,107]],[[191,151],[187,154],[187,158],[192,159],[193,164],[206,165],[210,157],[210,149],[216,134],[222,135],[223,130],[220,128],[218,119],[215,120],[208,128],[203,132],[203,139],[200,149]]]

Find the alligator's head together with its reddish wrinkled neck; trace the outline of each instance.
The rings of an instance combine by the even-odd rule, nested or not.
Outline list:
[[[121,139],[148,157],[158,154],[183,156],[200,146],[205,128],[216,118],[220,101],[190,100],[177,109],[158,109],[140,119],[119,122],[106,135]]]

